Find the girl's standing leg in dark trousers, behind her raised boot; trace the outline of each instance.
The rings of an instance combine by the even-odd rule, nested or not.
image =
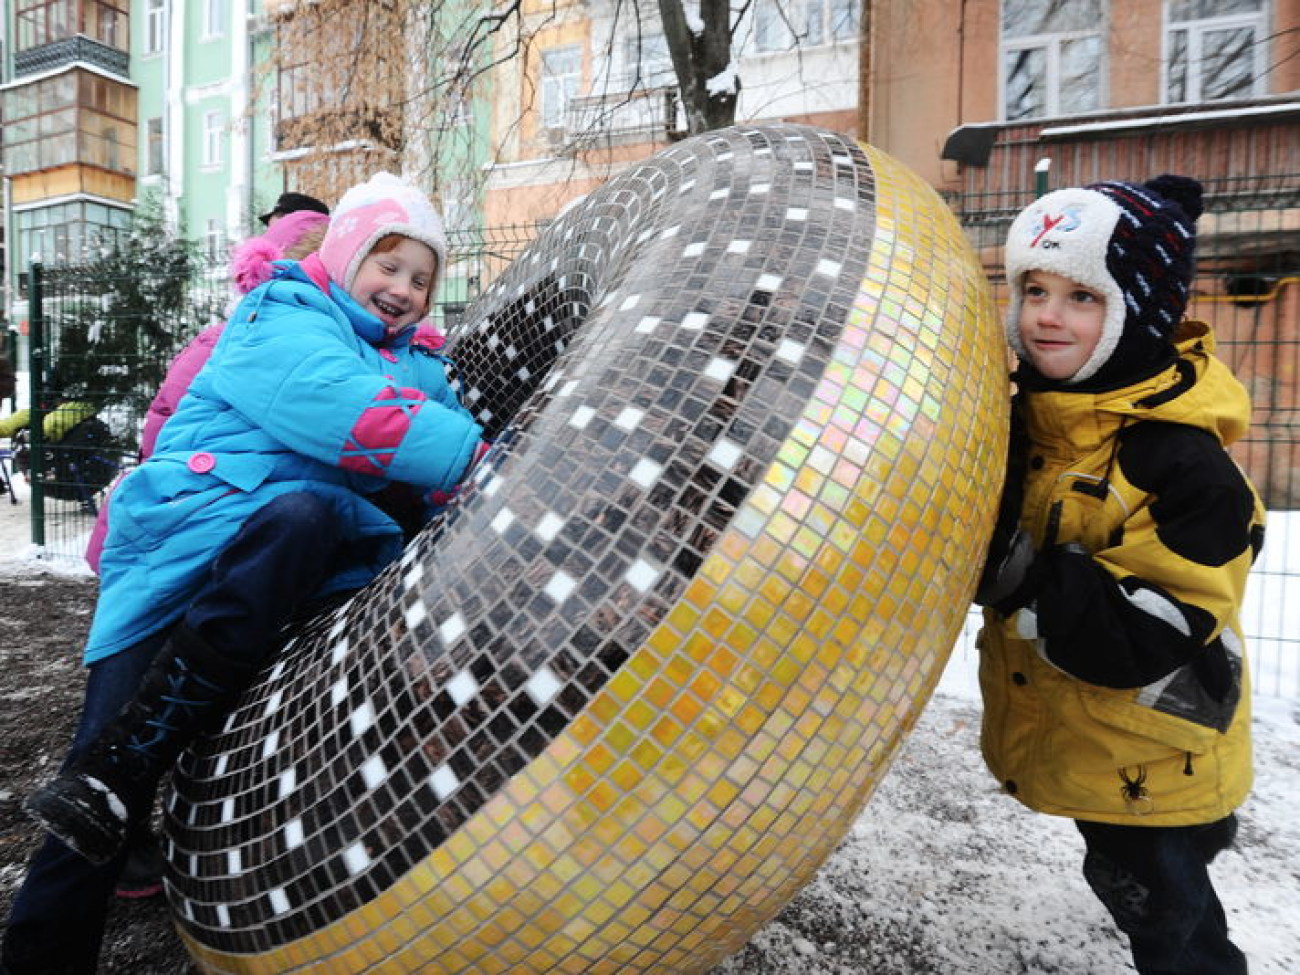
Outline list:
[[[66,768],[82,755],[139,686],[166,633],[91,664]],[[104,914],[121,861],[90,863],[53,837],[32,858],[14,897],[4,935],[6,972],[95,971]]]

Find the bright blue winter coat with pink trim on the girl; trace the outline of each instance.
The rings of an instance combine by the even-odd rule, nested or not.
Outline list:
[[[153,455],[113,493],[87,664],[178,620],[214,555],[281,494],[330,499],[364,558],[321,594],[364,585],[400,552],[400,528],[365,495],[391,481],[450,491],[482,434],[413,333],[385,338],[298,264],[244,296]]]

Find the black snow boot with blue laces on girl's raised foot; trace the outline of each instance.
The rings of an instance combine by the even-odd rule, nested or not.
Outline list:
[[[91,863],[107,863],[153,807],[159,780],[256,673],[178,627],[135,697],[86,753],[29,798],[29,815]]]

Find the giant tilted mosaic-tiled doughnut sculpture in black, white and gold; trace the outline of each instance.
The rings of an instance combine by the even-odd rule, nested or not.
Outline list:
[[[980,266],[818,129],[681,142],[451,335],[495,439],[181,763],[207,972],[690,972],[859,815],[966,614],[1002,474]]]

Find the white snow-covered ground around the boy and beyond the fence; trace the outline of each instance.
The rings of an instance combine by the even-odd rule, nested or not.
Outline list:
[[[30,511],[0,495],[5,578],[87,573],[39,558]],[[1253,975],[1300,971],[1300,516],[1270,520],[1252,582],[1256,789],[1238,846],[1214,876]],[[12,589],[9,590],[12,593]],[[30,592],[30,590],[29,590]],[[1271,636],[1268,636],[1271,634]],[[1079,875],[1071,823],[998,794],[978,750],[975,658],[959,646],[872,801],[814,881],[737,956],[725,975],[1112,975],[1126,948]]]

